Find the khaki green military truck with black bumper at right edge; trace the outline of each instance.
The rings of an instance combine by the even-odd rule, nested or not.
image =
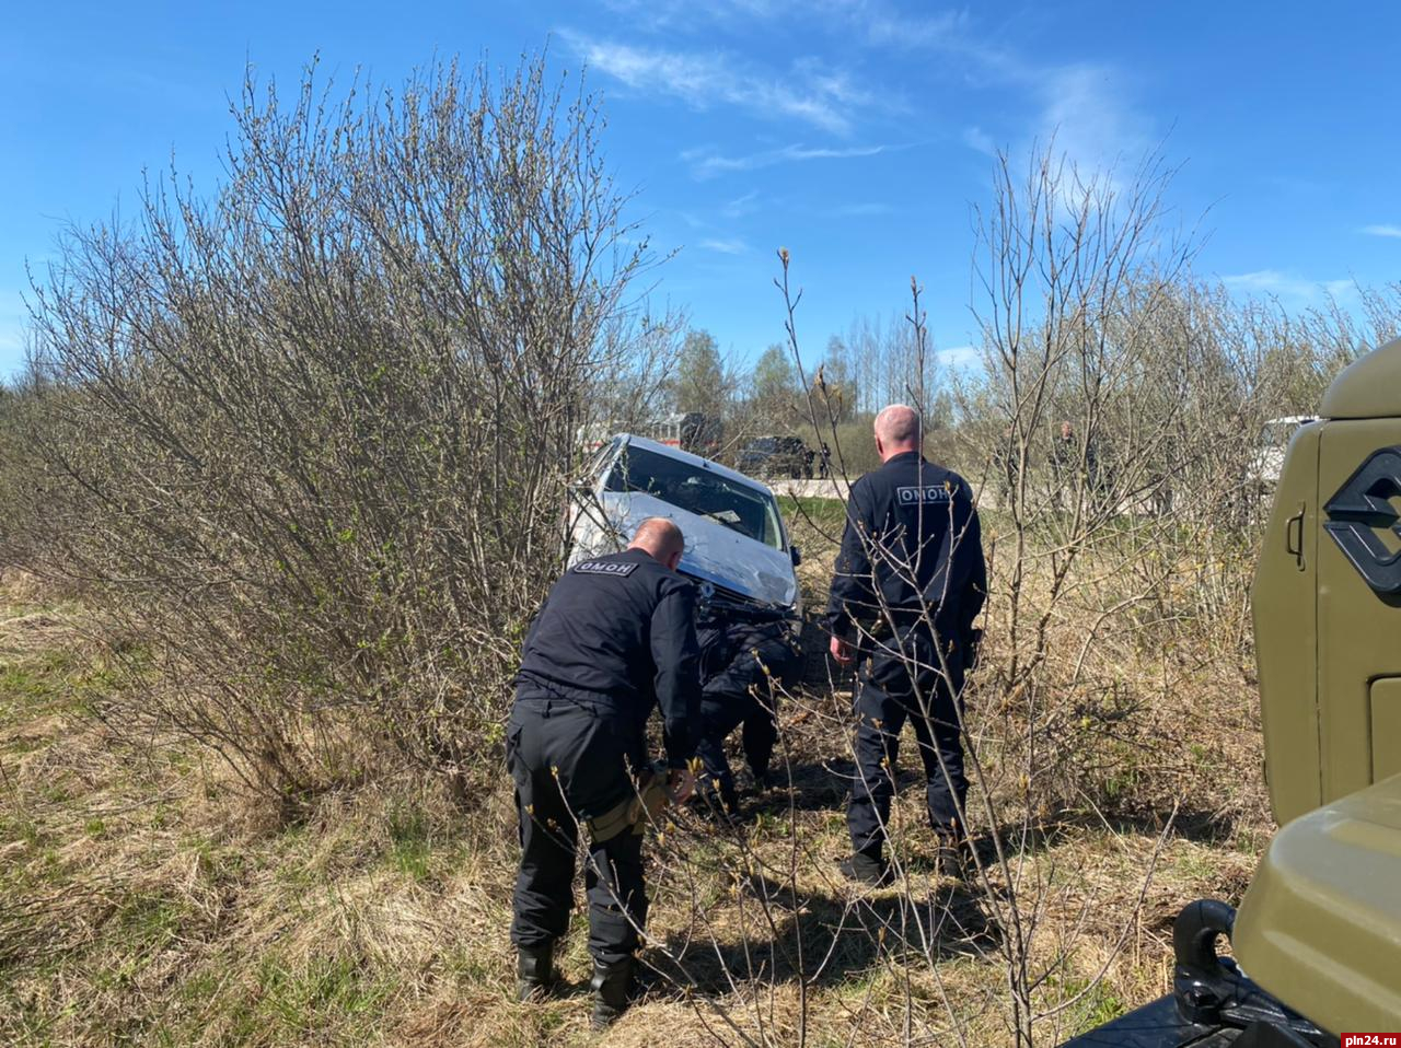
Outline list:
[[[1178,915],[1174,993],[1075,1048],[1401,1031],[1401,339],[1342,371],[1318,415],[1289,443],[1252,593],[1283,828],[1238,912]]]

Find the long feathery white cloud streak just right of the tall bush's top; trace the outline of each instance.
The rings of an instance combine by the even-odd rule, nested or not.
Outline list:
[[[771,119],[794,119],[845,135],[855,112],[876,98],[849,74],[800,60],[773,76],[720,52],[679,52],[633,46],[562,31],[560,36],[593,70],[644,94],[679,98],[695,109],[734,105]]]

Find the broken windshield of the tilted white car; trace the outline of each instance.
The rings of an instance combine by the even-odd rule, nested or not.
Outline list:
[[[772,496],[689,462],[628,447],[614,464],[607,488],[609,492],[646,492],[766,546],[783,548]]]

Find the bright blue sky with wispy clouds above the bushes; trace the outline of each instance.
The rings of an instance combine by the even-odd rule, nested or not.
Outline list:
[[[943,350],[971,340],[971,206],[989,151],[1052,132],[1080,164],[1160,146],[1198,269],[1290,308],[1398,279],[1401,6],[895,0],[21,4],[0,34],[0,374],[28,277],[66,221],[134,212],[143,168],[219,177],[245,64],[294,80],[319,52],[394,84],[461,55],[546,46],[588,69],[604,144],[663,249],[657,294],[722,347],[783,336],[793,252],[810,353],[926,287]]]

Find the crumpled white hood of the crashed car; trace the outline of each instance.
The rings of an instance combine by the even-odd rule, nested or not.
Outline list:
[[[600,500],[608,521],[625,535],[633,534],[647,517],[675,521],[686,538],[681,555],[681,570],[686,574],[764,604],[794,604],[797,580],[785,551],[643,492],[604,492]]]

